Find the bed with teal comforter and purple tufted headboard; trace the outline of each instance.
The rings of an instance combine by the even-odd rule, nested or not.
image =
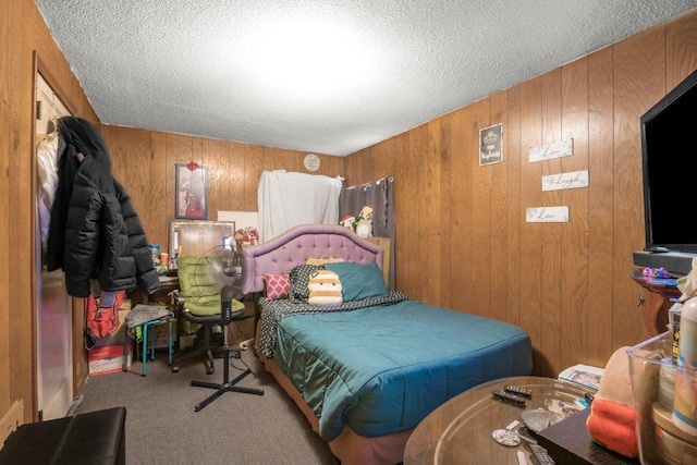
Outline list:
[[[400,463],[443,402],[533,370],[524,330],[388,291],[382,256],[340,225],[295,227],[243,252],[243,291],[260,295],[257,355],[343,465]],[[340,304],[307,303],[318,268],[335,272]]]

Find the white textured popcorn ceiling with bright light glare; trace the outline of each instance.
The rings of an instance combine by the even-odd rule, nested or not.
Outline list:
[[[697,0],[36,0],[106,124],[345,156]]]

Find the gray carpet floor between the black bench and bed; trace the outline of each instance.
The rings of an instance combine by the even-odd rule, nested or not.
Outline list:
[[[215,391],[192,380],[220,383],[222,358],[206,375],[203,362],[182,364],[173,374],[167,354],[135,360],[127,372],[93,376],[72,411],[75,414],[126,407],[127,464],[331,464],[339,461],[315,433],[295,403],[283,392],[252,350],[232,358],[230,379],[245,368],[253,374],[240,386],[261,388],[264,395],[225,392],[200,412],[194,406]],[[256,375],[255,375],[256,374]]]

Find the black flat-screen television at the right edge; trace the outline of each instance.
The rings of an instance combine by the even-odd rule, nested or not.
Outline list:
[[[651,107],[639,120],[644,180],[646,248],[639,266],[687,274],[697,256],[697,71]],[[651,250],[659,250],[658,253]],[[668,253],[663,252],[668,249]],[[641,258],[647,255],[650,258]],[[648,261],[647,261],[648,260]]]

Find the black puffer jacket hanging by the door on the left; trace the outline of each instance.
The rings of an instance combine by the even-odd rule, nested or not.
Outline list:
[[[65,150],[51,210],[48,270],[62,268],[68,293],[75,297],[89,295],[95,277],[102,291],[138,285],[151,294],[160,282],[148,241],[129,195],[111,174],[105,140],[81,118],[61,118],[58,129]]]

